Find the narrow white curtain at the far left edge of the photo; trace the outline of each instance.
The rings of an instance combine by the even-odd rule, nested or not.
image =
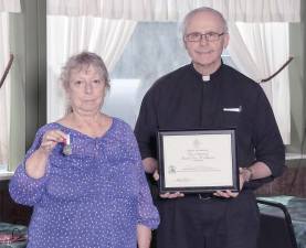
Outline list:
[[[0,77],[9,62],[9,14],[0,13]],[[0,171],[7,170],[10,133],[10,75],[0,88]]]

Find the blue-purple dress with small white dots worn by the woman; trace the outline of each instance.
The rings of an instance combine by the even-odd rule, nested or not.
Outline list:
[[[59,143],[46,174],[32,179],[24,162],[52,129],[70,134],[72,154],[64,155]],[[10,194],[34,206],[28,248],[135,248],[137,224],[154,229],[159,223],[136,139],[117,118],[101,138],[56,122],[42,127],[11,179]]]

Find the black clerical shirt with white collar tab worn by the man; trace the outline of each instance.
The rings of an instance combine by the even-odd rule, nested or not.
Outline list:
[[[267,164],[278,176],[285,164],[284,144],[261,86],[222,64],[204,82],[192,64],[161,78],[141,103],[135,134],[143,159],[157,158],[159,129],[236,129],[238,163]]]

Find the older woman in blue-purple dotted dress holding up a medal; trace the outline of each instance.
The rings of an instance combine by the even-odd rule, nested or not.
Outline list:
[[[62,72],[67,114],[42,127],[10,182],[12,198],[34,206],[29,248],[149,248],[159,217],[127,123],[101,112],[109,88],[94,53]]]

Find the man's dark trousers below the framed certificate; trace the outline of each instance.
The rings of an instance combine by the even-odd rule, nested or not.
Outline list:
[[[230,200],[160,200],[158,208],[157,248],[256,248],[260,214],[251,191]]]

